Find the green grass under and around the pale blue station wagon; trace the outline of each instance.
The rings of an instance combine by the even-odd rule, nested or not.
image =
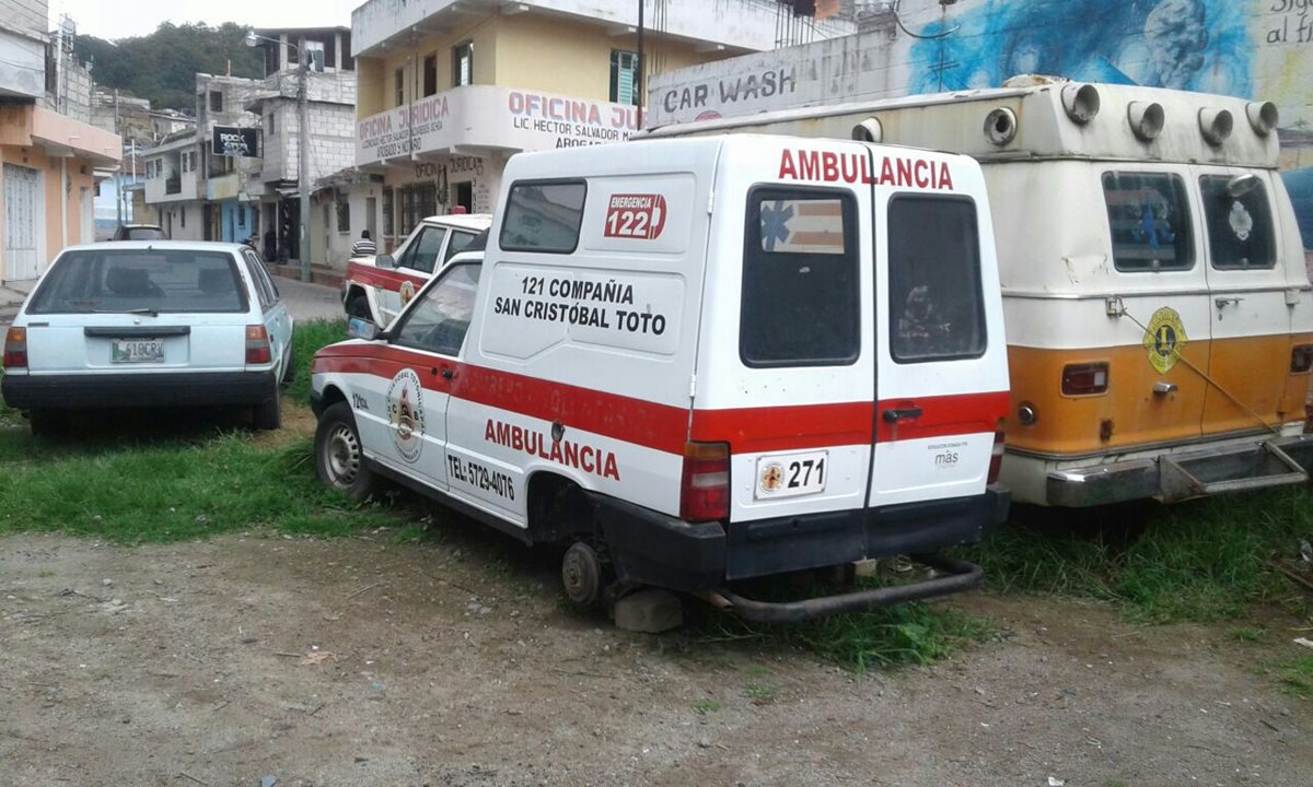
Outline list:
[[[314,350],[340,336],[337,323],[298,327],[303,391]],[[184,412],[108,416],[49,441],[33,438],[20,413],[0,409],[0,534],[152,543],[251,527],[343,535],[397,522],[323,487],[309,435],[286,426],[260,435],[232,421]]]

